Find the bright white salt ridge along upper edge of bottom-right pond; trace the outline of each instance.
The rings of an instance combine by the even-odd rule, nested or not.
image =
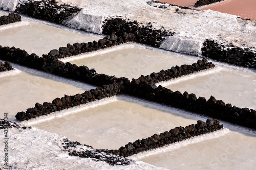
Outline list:
[[[199,142],[204,141],[204,140],[218,138],[218,137],[226,135],[229,132],[230,131],[227,128],[224,128],[222,130],[218,130],[218,131],[215,131],[215,132],[203,134],[203,135],[200,135],[200,136],[191,137],[189,139],[186,139],[186,140],[183,140],[183,141],[180,141],[180,142],[175,142],[175,143],[172,143],[172,144],[168,144],[168,145],[166,145],[164,147],[161,147],[161,148],[158,148],[158,149],[141,152],[137,155],[133,155],[133,156],[130,156],[130,157],[127,157],[127,158],[133,159],[133,160],[139,160],[139,159],[142,159],[142,158],[147,157],[147,156],[176,150],[176,149],[182,148],[182,147],[184,147],[186,145],[189,145],[189,144],[192,144],[192,143],[199,143]]]

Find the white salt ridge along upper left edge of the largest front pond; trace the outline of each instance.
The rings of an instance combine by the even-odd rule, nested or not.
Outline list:
[[[82,111],[82,110],[90,109],[90,108],[97,107],[97,106],[100,106],[100,105],[105,105],[105,104],[115,102],[115,101],[117,101],[117,98],[116,98],[116,96],[113,96],[111,98],[104,98],[104,99],[101,99],[101,100],[98,100],[98,101],[90,102],[88,104],[83,104],[83,105],[79,105],[79,106],[72,107],[72,108],[69,108],[69,109],[53,112],[53,113],[50,113],[48,115],[43,115],[43,116],[40,116],[38,118],[25,120],[23,122],[20,122],[20,121],[17,121],[17,120],[15,122],[19,123],[20,125],[23,125],[23,126],[31,126],[33,124],[45,122],[47,120],[51,120],[51,119],[56,118],[56,117],[62,117],[62,116],[65,116],[67,114],[76,113],[76,112],[79,112],[79,111]]]

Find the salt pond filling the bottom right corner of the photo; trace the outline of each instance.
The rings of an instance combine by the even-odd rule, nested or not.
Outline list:
[[[237,130],[206,140],[201,136],[186,145],[170,145],[161,153],[151,151],[134,157],[168,169],[255,169],[256,136]]]

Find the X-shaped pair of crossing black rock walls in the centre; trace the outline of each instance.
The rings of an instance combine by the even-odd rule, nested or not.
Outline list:
[[[35,54],[29,55],[26,51],[22,51],[15,47],[9,48],[0,46],[0,54],[2,54],[0,58],[3,60],[15,62],[30,68],[44,70],[46,72],[48,69],[45,68],[50,67],[52,69],[52,74],[102,86],[102,89],[99,88],[97,90],[101,91],[102,95],[97,97],[95,96],[95,99],[102,99],[106,96],[113,96],[123,92],[152,102],[157,102],[160,104],[163,103],[167,106],[177,107],[195,112],[197,114],[222,119],[232,124],[256,129],[255,110],[250,110],[248,108],[241,109],[234,106],[232,107],[231,104],[225,104],[223,101],[217,101],[212,96],[208,101],[206,101],[206,99],[203,97],[199,97],[197,99],[197,96],[193,93],[188,94],[187,92],[184,92],[181,94],[179,91],[173,92],[172,90],[162,86],[156,88],[155,82],[172,79],[172,76],[170,76],[170,71],[172,71],[172,75],[174,75],[174,77],[178,77],[183,76],[183,74],[186,74],[186,72],[193,73],[199,71],[200,69],[204,69],[205,67],[210,68],[214,66],[214,64],[208,63],[206,60],[199,60],[197,63],[192,65],[172,67],[170,70],[160,71],[159,74],[153,73],[151,76],[141,76],[139,79],[133,79],[132,82],[130,82],[127,78],[114,78],[104,74],[99,75],[94,69],[90,70],[87,66],[78,67],[75,64],[72,65],[71,63],[63,63],[49,55],[43,55],[43,57],[38,57]],[[184,70],[184,68],[187,69]],[[182,69],[183,74],[181,74]],[[166,73],[167,76],[164,78]],[[77,95],[79,96],[79,99],[72,102],[73,104],[71,105],[62,106],[62,102],[64,101],[65,97],[61,98],[62,101],[60,98],[57,98],[52,102],[51,105],[47,103],[50,105],[48,110],[46,108],[44,109],[44,105],[36,104],[36,107],[29,108],[26,112],[19,112],[16,118],[19,120],[27,120],[40,115],[49,114],[53,111],[59,111],[71,106],[76,106],[81,103],[85,104],[89,102],[89,99],[91,99],[87,96],[83,96],[82,98],[82,94]],[[75,99],[75,96],[76,95],[72,96],[72,98]]]

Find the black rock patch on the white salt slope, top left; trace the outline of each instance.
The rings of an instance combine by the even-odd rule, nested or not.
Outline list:
[[[55,0],[29,0],[20,4],[15,12],[62,25],[80,11],[78,7],[59,5]]]

